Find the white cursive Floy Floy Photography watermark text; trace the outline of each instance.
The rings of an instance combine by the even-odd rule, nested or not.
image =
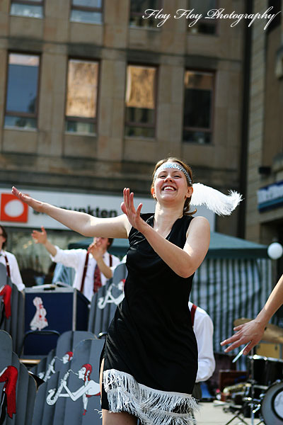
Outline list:
[[[270,6],[267,8],[267,10],[264,13],[236,13],[235,11],[231,13],[225,13],[224,8],[219,9],[211,9],[207,12],[207,15],[204,16],[202,13],[195,13],[195,9],[178,9],[178,11],[175,11],[175,15],[173,16],[174,19],[190,19],[189,27],[192,27],[199,21],[200,19],[232,19],[233,22],[231,23],[231,27],[236,26],[242,19],[251,19],[248,26],[251,26],[252,23],[256,19],[265,19],[267,20],[267,23],[265,24],[264,30],[269,26],[270,22],[275,18],[275,16],[278,15],[278,13],[281,13],[281,11],[277,13],[269,13],[272,11],[273,6]],[[161,9],[146,9],[144,11],[144,15],[142,16],[144,19],[148,18],[155,18],[158,19],[158,27],[163,26],[163,23],[166,23],[168,19],[170,19],[171,13],[164,13],[163,8]]]

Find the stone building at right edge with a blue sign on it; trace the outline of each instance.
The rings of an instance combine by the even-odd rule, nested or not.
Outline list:
[[[263,244],[283,242],[282,2],[254,2],[261,13],[270,5],[280,11],[270,30],[253,28],[246,200],[246,237]]]

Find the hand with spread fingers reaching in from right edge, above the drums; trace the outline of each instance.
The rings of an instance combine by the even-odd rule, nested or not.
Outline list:
[[[248,354],[250,350],[261,341],[262,335],[265,331],[265,325],[260,324],[253,319],[248,323],[240,324],[233,330],[236,331],[236,334],[233,334],[230,338],[222,341],[221,346],[231,344],[225,349],[225,352],[229,353],[229,351],[232,351],[234,348],[237,348],[242,344],[250,343],[243,351],[243,354]]]

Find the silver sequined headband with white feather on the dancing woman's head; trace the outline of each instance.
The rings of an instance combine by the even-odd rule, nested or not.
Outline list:
[[[158,167],[154,174],[154,181],[159,173],[164,169],[176,169],[182,171],[185,174],[187,182],[192,185],[192,179],[187,170],[184,169],[180,164],[175,162],[164,162]],[[194,206],[205,205],[209,210],[212,210],[217,215],[230,215],[236,206],[243,200],[241,193],[236,191],[229,191],[229,195],[224,195],[210,186],[206,186],[202,183],[194,183],[192,185],[194,189],[190,203]]]

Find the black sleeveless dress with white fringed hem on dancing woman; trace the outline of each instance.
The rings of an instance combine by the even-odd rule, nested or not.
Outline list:
[[[141,218],[153,226],[153,214]],[[183,248],[191,220],[185,215],[176,220],[166,239]],[[191,424],[197,375],[188,307],[193,276],[178,276],[133,227],[127,269],[125,298],[103,351],[109,410],[134,414],[145,425]]]

